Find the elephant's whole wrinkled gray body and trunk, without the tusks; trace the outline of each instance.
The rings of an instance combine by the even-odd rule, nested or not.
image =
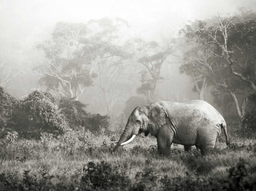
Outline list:
[[[196,145],[202,155],[210,153],[224,129],[226,143],[228,136],[226,122],[222,115],[210,104],[202,100],[190,102],[159,101],[136,107],[128,118],[125,130],[114,151],[132,135],[149,133],[157,138],[158,153],[169,156],[171,144],[184,145],[191,151]]]

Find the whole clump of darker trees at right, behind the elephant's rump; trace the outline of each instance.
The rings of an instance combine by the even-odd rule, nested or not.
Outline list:
[[[233,105],[240,122],[254,127],[256,93],[256,13],[189,21],[180,34],[185,46],[180,72],[190,76],[203,100],[206,88],[228,117]]]

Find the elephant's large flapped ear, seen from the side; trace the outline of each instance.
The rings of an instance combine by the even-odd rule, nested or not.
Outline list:
[[[152,105],[149,111],[149,129],[150,134],[156,135],[160,126],[164,125],[168,120],[168,114],[160,105]]]

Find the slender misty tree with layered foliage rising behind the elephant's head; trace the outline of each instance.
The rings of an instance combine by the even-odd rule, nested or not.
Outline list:
[[[130,39],[128,45],[137,58],[137,62],[144,68],[140,71],[141,86],[137,88],[136,92],[146,95],[148,103],[151,103],[154,100],[157,85],[164,81],[160,71],[167,56],[172,53],[171,39],[163,38],[159,43],[157,41],[145,41],[137,37]]]

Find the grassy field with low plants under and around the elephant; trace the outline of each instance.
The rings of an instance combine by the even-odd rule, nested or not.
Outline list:
[[[137,136],[117,153],[110,138],[88,131],[40,140],[10,134],[0,143],[0,190],[256,189],[255,139],[231,136],[226,146],[222,137],[205,157],[173,144],[164,157],[153,137]]]

